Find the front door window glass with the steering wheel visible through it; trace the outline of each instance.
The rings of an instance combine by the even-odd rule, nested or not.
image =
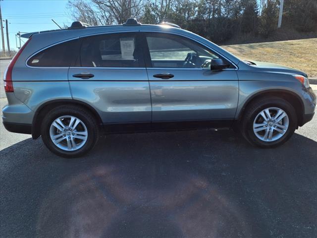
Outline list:
[[[210,68],[212,59],[219,59],[208,48],[185,37],[166,33],[146,35],[152,67]]]

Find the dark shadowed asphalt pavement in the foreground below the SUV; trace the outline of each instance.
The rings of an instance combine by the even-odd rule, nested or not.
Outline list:
[[[40,139],[1,151],[1,234],[314,237],[317,142],[274,149],[233,131],[109,135],[64,159]]]

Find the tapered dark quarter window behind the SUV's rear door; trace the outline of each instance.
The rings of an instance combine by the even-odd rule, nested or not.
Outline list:
[[[67,41],[47,48],[28,60],[29,66],[69,67],[78,55],[78,39]]]

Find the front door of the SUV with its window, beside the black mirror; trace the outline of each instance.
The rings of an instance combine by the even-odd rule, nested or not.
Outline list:
[[[183,36],[144,33],[144,37],[154,122],[234,118],[236,66],[227,60],[228,69],[211,71],[211,59],[221,56]]]

